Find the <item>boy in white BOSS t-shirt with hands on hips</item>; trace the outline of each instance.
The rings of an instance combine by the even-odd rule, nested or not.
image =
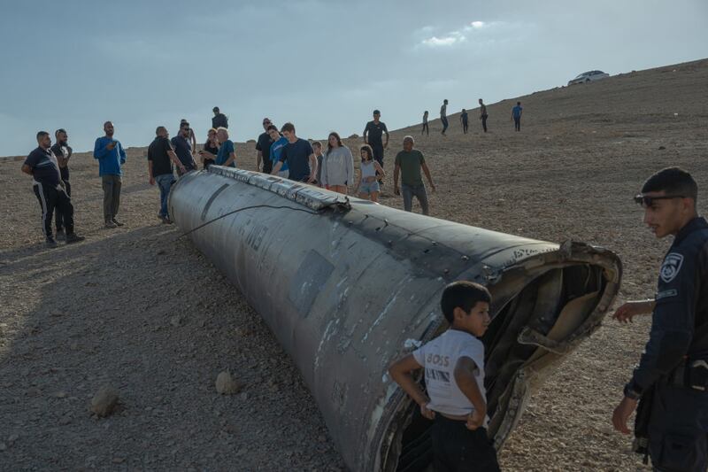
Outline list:
[[[435,420],[431,431],[436,471],[498,471],[487,436],[484,344],[489,326],[489,290],[479,283],[452,282],[441,306],[450,329],[394,362],[389,374]],[[425,369],[427,395],[411,372]]]

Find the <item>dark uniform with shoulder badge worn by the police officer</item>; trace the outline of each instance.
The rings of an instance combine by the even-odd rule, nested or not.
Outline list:
[[[649,453],[658,470],[708,469],[708,222],[676,235],[658,280],[650,339],[627,388],[653,387]]]

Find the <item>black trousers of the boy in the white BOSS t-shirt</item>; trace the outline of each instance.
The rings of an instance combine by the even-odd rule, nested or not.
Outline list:
[[[487,429],[467,429],[466,422],[435,414],[430,433],[435,472],[498,472],[496,451]]]

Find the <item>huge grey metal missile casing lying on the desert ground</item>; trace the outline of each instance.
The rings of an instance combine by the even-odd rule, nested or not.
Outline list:
[[[482,341],[497,449],[530,393],[600,326],[620,289],[620,259],[603,248],[473,228],[240,169],[183,175],[169,210],[273,330],[351,470],[412,470],[429,459],[432,423],[387,369],[447,328],[448,283],[480,282],[493,297]]]

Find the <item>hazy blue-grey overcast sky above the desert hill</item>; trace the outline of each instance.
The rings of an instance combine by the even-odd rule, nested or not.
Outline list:
[[[264,117],[297,135],[389,129],[609,74],[708,56],[706,0],[7,2],[0,16],[0,156],[66,128],[93,149],[112,120],[126,146],[181,118],[204,141],[212,107],[232,139]]]

